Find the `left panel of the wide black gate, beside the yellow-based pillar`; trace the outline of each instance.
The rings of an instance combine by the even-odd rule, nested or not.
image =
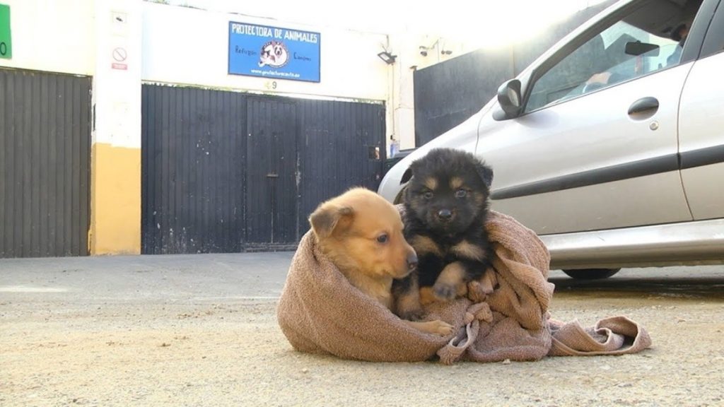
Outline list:
[[[241,250],[246,98],[143,85],[141,252]]]

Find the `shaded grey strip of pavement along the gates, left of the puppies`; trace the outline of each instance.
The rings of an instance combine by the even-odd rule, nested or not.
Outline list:
[[[282,292],[292,255],[277,252],[0,259],[0,295],[70,303],[270,299]]]

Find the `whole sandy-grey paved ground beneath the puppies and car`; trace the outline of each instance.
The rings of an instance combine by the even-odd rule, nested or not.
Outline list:
[[[442,366],[292,351],[292,253],[0,260],[1,406],[724,406],[724,267],[552,272],[552,314],[626,314],[631,356]]]

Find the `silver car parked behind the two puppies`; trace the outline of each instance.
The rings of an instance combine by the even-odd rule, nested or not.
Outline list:
[[[409,164],[435,147],[492,165],[492,208],[572,277],[724,263],[724,0],[605,9],[392,167],[379,193],[399,201]]]

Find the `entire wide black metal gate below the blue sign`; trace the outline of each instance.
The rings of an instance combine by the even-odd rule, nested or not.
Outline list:
[[[143,85],[142,252],[293,248],[319,202],[376,189],[384,106]]]

